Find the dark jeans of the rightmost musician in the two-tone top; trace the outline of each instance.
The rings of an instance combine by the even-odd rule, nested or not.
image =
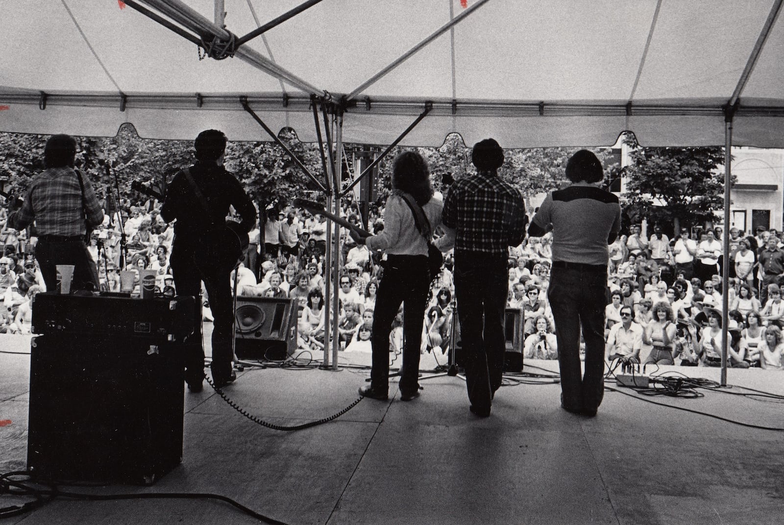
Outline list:
[[[607,270],[554,267],[547,292],[555,321],[561,392],[567,410],[596,410],[604,397],[604,305]],[[580,328],[586,343],[580,370]]]

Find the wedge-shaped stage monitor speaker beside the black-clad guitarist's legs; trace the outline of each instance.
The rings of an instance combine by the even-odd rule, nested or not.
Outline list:
[[[296,350],[295,299],[237,297],[234,353],[239,359],[282,361]]]

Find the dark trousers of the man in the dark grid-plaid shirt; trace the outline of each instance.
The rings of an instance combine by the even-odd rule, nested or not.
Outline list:
[[[488,253],[455,253],[455,297],[466,388],[468,400],[479,411],[490,410],[503,376],[503,316],[509,291],[506,260],[506,256]]]

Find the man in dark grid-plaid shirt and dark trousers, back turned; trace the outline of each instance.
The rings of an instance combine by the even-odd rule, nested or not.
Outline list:
[[[509,246],[523,241],[528,216],[520,191],[498,175],[504,156],[495,140],[474,144],[471,161],[477,173],[449,188],[446,235],[436,246],[441,251],[455,248],[455,296],[470,410],[488,417],[503,375]]]

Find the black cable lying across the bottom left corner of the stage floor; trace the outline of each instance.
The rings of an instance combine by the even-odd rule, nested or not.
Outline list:
[[[27,477],[27,479],[20,480],[20,479],[12,479],[18,477]],[[38,488],[31,486],[32,484],[41,484],[45,485],[49,488]],[[187,493],[187,492],[149,492],[144,494],[81,494],[75,492],[67,492],[64,490],[60,490],[57,488],[55,484],[50,483],[43,483],[38,482],[34,479],[34,476],[31,472],[27,471],[16,471],[16,472],[6,472],[5,474],[0,474],[0,497],[5,494],[10,494],[12,496],[30,496],[34,498],[33,501],[27,501],[24,504],[20,505],[9,505],[6,507],[0,508],[0,519],[9,518],[12,516],[19,516],[20,514],[24,514],[26,512],[31,512],[42,505],[53,501],[56,498],[68,498],[74,499],[79,501],[120,501],[120,500],[132,500],[132,499],[209,499],[209,500],[217,500],[223,501],[224,503],[228,503],[229,505],[233,506],[235,509],[239,509],[241,512],[245,512],[245,514],[256,518],[256,520],[260,520],[263,523],[270,523],[271,525],[286,525],[285,522],[280,520],[275,520],[274,518],[270,518],[269,516],[264,516],[259,512],[256,512],[252,509],[249,509],[245,505],[238,503],[238,501],[234,501],[231,498],[227,498],[226,496],[220,494],[210,494],[210,493]]]

